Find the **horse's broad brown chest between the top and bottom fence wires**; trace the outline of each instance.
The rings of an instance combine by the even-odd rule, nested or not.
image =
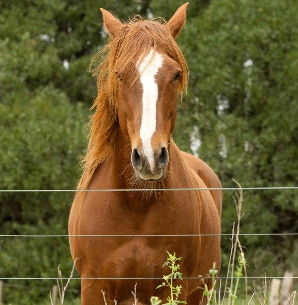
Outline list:
[[[148,277],[160,276],[166,250],[187,257],[198,246],[197,238],[177,236],[199,233],[195,205],[178,204],[173,196],[135,209],[114,196],[86,197],[81,207],[75,234],[93,237],[76,239],[76,256],[91,261],[93,270],[108,277],[125,277],[128,270],[141,270],[140,277],[145,271]]]

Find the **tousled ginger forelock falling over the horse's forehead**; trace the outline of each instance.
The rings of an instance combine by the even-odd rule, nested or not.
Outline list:
[[[164,24],[137,16],[122,25],[108,44],[92,58],[89,66],[93,76],[97,77],[98,95],[107,91],[113,112],[116,111],[118,78],[128,85],[134,83],[140,77],[136,69],[137,62],[142,61],[152,48],[154,54],[158,49],[179,63],[182,69],[179,92],[183,93],[187,86],[188,71],[179,46]],[[100,106],[97,102],[95,99],[93,107]]]

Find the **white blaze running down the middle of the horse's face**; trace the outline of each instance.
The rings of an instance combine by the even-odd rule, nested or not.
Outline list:
[[[154,169],[154,155],[151,147],[151,137],[156,128],[156,102],[158,98],[158,87],[155,75],[162,65],[162,56],[153,49],[147,54],[143,61],[138,61],[138,70],[141,73],[140,80],[143,86],[143,114],[140,128],[140,137],[143,142],[143,154],[149,162],[151,172]],[[151,62],[150,62],[151,61]],[[150,63],[149,63],[150,62]]]

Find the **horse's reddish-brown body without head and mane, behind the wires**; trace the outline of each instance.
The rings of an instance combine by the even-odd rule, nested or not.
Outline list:
[[[119,155],[126,143],[120,139],[116,143],[111,159],[95,171],[90,189],[129,188],[125,177],[130,174],[123,172],[127,156]],[[203,161],[180,152],[172,140],[169,154],[165,188],[221,187],[217,176]],[[161,190],[149,198],[142,192],[87,192],[81,207],[78,209],[75,204],[72,207],[69,231],[70,235],[220,234],[221,199],[220,190],[213,194],[209,190]],[[219,236],[72,237],[70,244],[81,277],[161,278],[168,272],[162,268],[166,250],[182,256],[183,277],[204,277],[213,262],[220,266]],[[148,304],[150,296],[165,301],[169,294],[167,290],[156,290],[161,280],[82,280],[82,304],[104,304],[101,290],[111,304],[113,300],[125,304],[131,299],[136,282],[137,297],[144,304]],[[180,299],[187,300],[196,291],[196,300],[188,304],[198,304],[202,292],[196,289],[201,285],[200,280],[184,279]]]

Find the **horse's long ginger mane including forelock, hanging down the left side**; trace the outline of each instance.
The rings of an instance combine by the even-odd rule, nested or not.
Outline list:
[[[163,20],[163,19],[162,19]],[[136,64],[153,48],[161,50],[180,64],[182,69],[178,90],[182,97],[187,87],[188,70],[186,61],[179,46],[163,23],[155,20],[144,20],[135,16],[123,23],[114,37],[110,38],[93,58],[89,71],[97,77],[97,96],[91,110],[94,114],[89,123],[89,142],[82,160],[83,174],[78,189],[86,189],[96,168],[111,155],[116,134],[119,128],[117,117],[117,91],[119,79],[133,84],[140,74]],[[81,197],[79,191],[76,197]]]

